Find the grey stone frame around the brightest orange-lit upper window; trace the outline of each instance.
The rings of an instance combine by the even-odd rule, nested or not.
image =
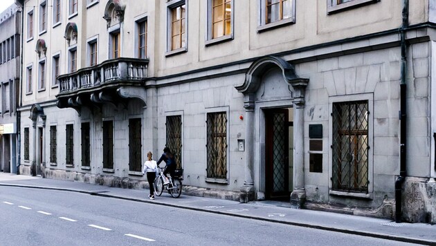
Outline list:
[[[208,12],[207,12],[207,27],[206,27],[206,40],[205,44],[206,46],[221,43],[223,41],[230,41],[233,40],[233,32],[234,32],[234,23],[235,23],[235,3],[234,0],[230,0],[230,8],[231,8],[231,14],[230,14],[230,35],[223,35],[220,37],[213,37],[213,2],[215,0],[208,0]],[[226,1],[226,0],[224,0]],[[228,1],[228,0],[227,0]],[[223,3],[225,4],[225,3]],[[225,8],[225,7],[224,7]],[[223,19],[225,21],[225,19]]]

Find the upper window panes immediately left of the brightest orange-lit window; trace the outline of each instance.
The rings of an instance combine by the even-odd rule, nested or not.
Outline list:
[[[167,50],[186,49],[186,26],[185,1],[176,1],[176,3],[168,6]]]

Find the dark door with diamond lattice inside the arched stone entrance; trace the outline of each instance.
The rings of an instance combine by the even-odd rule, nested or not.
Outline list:
[[[287,108],[265,112],[266,199],[289,198],[289,111]]]

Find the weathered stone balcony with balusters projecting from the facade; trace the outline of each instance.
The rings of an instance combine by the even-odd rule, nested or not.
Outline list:
[[[82,68],[57,77],[59,108],[100,108],[102,104],[127,106],[127,100],[136,98],[145,106],[144,82],[148,59],[118,58]]]

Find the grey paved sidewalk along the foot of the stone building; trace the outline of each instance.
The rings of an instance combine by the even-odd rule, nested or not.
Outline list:
[[[181,209],[192,209],[208,213],[224,214],[272,223],[311,227],[347,234],[399,240],[407,243],[436,245],[436,225],[423,223],[394,223],[391,220],[336,214],[324,211],[291,209],[286,202],[239,203],[231,200],[201,198],[183,195],[174,199],[163,193],[156,200],[149,200],[146,190],[120,189],[83,182],[51,180],[40,177],[17,176],[0,173],[0,186],[27,187],[34,189],[56,189],[89,193],[94,196],[133,200]]]

